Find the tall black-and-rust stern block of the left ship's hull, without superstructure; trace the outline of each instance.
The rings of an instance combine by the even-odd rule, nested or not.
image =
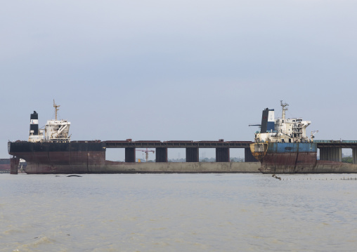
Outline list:
[[[8,153],[27,161],[27,174],[105,172],[103,142],[8,142]]]

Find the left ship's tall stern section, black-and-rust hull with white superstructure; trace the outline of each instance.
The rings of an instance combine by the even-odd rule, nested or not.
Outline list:
[[[105,143],[101,141],[71,141],[70,122],[57,118],[59,105],[53,100],[56,118],[39,128],[39,114],[30,115],[27,141],[8,142],[11,173],[17,173],[20,159],[27,165],[27,174],[37,173],[100,173],[105,164]]]

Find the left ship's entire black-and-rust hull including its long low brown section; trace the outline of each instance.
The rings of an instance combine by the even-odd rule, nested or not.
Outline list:
[[[72,173],[259,173],[259,162],[125,163],[105,160],[105,142],[8,142],[11,173],[20,159],[27,174]]]

